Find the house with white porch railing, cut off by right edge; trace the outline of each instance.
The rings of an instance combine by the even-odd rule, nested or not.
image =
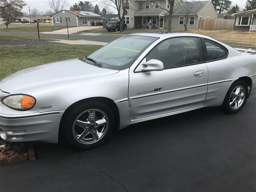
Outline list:
[[[256,31],[256,9],[235,14],[234,30]]]

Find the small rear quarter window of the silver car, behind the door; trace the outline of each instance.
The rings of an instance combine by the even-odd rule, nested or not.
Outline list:
[[[204,39],[204,42],[206,47],[204,59],[206,61],[224,59],[228,56],[228,50],[224,46],[208,39]]]

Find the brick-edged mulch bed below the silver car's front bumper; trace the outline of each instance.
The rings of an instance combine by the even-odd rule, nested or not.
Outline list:
[[[0,139],[0,165],[29,159],[28,144]]]

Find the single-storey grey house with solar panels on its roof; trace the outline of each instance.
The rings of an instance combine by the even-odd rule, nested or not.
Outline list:
[[[52,16],[53,26],[65,26],[68,21],[69,26],[90,26],[94,23],[100,23],[102,16],[88,11],[61,10]]]

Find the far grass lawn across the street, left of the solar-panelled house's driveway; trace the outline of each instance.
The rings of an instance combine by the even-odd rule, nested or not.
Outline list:
[[[73,27],[73,26],[69,26]],[[55,30],[64,29],[66,26],[52,26],[52,24],[39,24],[39,32],[51,32]],[[0,25],[0,32],[37,32],[36,24],[22,24],[22,23],[11,23],[8,25],[8,29],[5,24]]]

